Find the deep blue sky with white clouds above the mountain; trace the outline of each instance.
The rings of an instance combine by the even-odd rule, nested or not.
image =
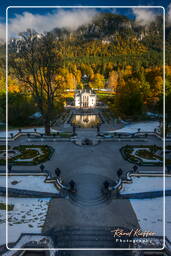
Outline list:
[[[167,19],[171,24],[171,0],[167,1],[145,1],[145,0],[1,0],[0,2],[0,40],[5,38],[5,10],[8,6],[163,6],[166,8]],[[169,6],[169,8],[168,8]],[[52,30],[54,27],[68,26],[75,29],[79,25],[91,22],[99,9],[48,9],[48,8],[11,8],[9,9],[9,24],[11,34],[22,32],[29,28],[35,28],[38,32]],[[142,25],[155,21],[157,13],[162,13],[162,9],[126,9],[115,8],[114,13],[124,14],[136,19]],[[80,24],[81,23],[81,24]]]

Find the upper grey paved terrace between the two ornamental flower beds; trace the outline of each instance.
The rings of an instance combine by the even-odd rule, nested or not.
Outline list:
[[[94,130],[87,131],[88,134],[85,134],[85,131],[80,129],[78,136],[80,137],[92,137],[95,135]],[[27,136],[21,136],[17,140],[9,142],[11,146],[18,145],[43,145],[47,144],[52,146],[55,149],[55,152],[52,158],[45,162],[45,169],[54,173],[54,170],[58,167],[62,171],[62,176],[66,181],[71,177],[74,179],[74,176],[78,173],[96,173],[99,175],[108,176],[111,179],[116,178],[116,171],[118,168],[122,168],[124,171],[128,171],[133,164],[124,160],[120,153],[120,148],[126,144],[130,145],[151,145],[156,144],[162,146],[162,141],[156,137],[150,136],[147,141],[138,142],[138,141],[116,141],[116,142],[101,142],[96,146],[78,146],[72,142],[48,142],[48,141],[37,141],[37,142],[28,142]],[[0,143],[4,145],[4,143]],[[5,170],[5,166],[0,166],[0,170]],[[24,170],[24,171],[40,171],[39,165],[36,166],[13,166],[13,170]],[[139,170],[151,170],[157,171],[162,170],[162,167],[150,167],[142,166],[139,167]]]

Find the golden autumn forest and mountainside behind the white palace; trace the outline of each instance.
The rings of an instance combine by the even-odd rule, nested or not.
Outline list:
[[[29,45],[30,53],[34,52],[32,56],[27,54],[26,45]],[[4,49],[2,45],[1,122],[5,121]],[[31,66],[30,63],[34,64]],[[170,28],[166,29],[165,69],[166,117],[170,120]],[[99,100],[107,104],[116,117],[137,119],[147,111],[161,114],[163,77],[163,31],[160,16],[148,27],[138,27],[126,16],[102,13],[93,24],[82,26],[76,31],[54,29],[40,35],[28,30],[21,33],[20,39],[14,38],[9,44],[9,125],[19,126],[21,120],[23,125],[28,125],[29,116],[36,111],[47,116],[45,108],[50,108],[50,105],[56,109],[50,115],[53,119],[63,111],[66,99],[73,97],[74,90],[85,86],[96,90]],[[54,93],[51,102],[43,106],[39,103],[41,97],[47,100],[46,78]],[[40,87],[43,88],[41,93],[35,95],[34,89],[40,92]],[[106,89],[106,92],[102,89]]]

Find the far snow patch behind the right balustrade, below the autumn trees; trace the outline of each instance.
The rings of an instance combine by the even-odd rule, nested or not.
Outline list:
[[[154,132],[155,128],[159,128],[158,121],[147,121],[147,122],[136,122],[132,124],[125,125],[125,127],[115,130],[114,132],[128,132],[135,133],[138,129],[141,129],[140,132]]]

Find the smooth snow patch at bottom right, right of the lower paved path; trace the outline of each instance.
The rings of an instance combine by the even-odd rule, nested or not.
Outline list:
[[[163,236],[163,198],[131,199],[140,228]],[[171,197],[166,197],[166,236],[171,240]]]

